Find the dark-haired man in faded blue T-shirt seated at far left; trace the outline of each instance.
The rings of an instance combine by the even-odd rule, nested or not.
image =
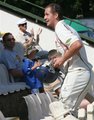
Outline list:
[[[15,39],[11,33],[5,33],[2,37],[4,49],[1,53],[1,62],[5,64],[9,73],[14,77],[15,82],[22,82],[24,74],[22,72],[22,59],[13,50]]]

